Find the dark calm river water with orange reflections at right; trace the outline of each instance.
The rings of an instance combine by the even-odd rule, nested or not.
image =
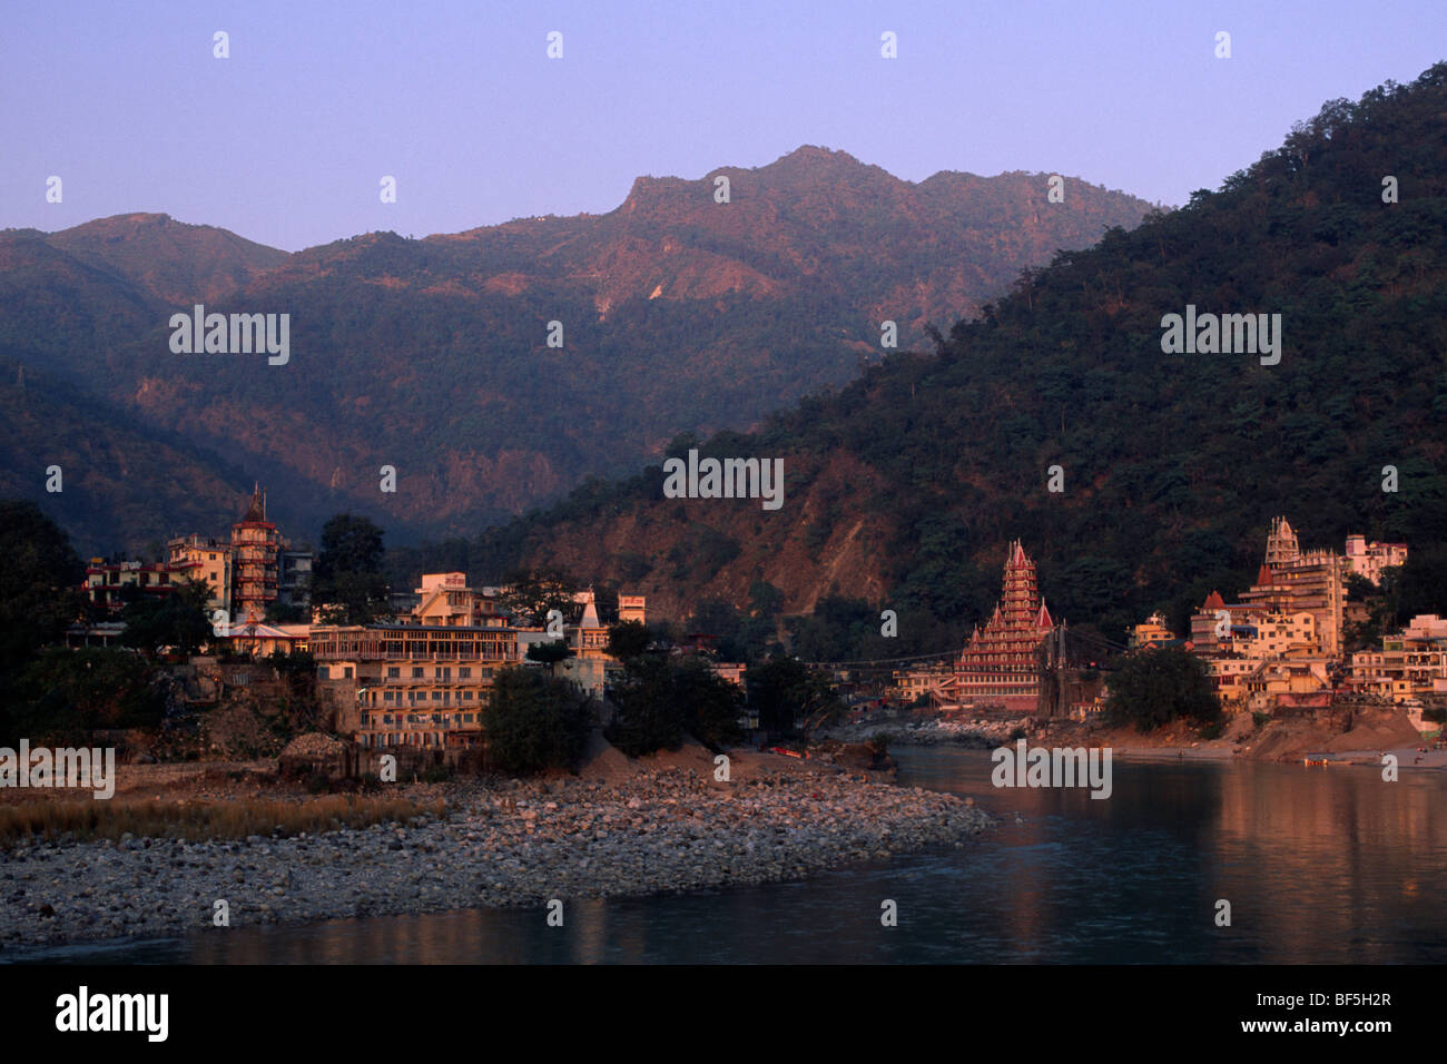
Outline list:
[[[687,896],[218,928],[45,960],[428,963],[1443,963],[1447,773],[1121,763],[1110,799],[990,786],[985,751],[904,750],[900,782],[1001,818],[962,850]],[[899,926],[880,905],[899,905]],[[1231,925],[1217,926],[1220,899]]]

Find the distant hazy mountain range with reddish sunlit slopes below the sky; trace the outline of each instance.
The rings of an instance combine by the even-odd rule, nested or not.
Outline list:
[[[1022,269],[1150,210],[1075,178],[1052,203],[1048,177],[909,182],[806,146],[638,178],[608,214],[420,240],[287,253],[165,214],[4,230],[0,492],[84,553],[220,531],[253,481],[295,539],[341,510],[394,543],[475,536],[680,433],[845,385],[890,353],[886,320],[900,349],[928,346]],[[288,314],[288,363],[174,352],[171,316],[195,304]]]

